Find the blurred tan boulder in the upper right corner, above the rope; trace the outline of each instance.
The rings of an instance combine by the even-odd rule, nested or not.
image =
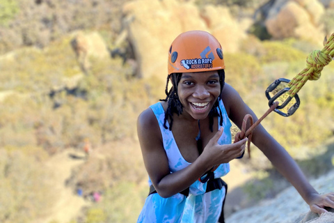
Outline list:
[[[273,38],[294,37],[321,43],[325,33],[319,22],[324,12],[324,6],[317,0],[277,0],[265,24]]]

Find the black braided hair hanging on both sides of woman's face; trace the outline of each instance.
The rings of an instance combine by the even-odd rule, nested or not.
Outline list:
[[[224,70],[218,70],[219,75],[219,84],[221,84],[221,92],[223,91],[223,87],[225,84],[225,71]],[[169,130],[172,130],[173,125],[173,114],[177,114],[179,116],[183,112],[183,105],[179,100],[179,95],[177,94],[177,85],[180,82],[182,73],[176,72],[168,75],[167,81],[166,81],[166,98],[161,99],[160,101],[168,102],[168,107],[165,112],[165,118],[164,118],[164,128],[168,129],[166,123],[168,119],[170,119],[169,123]],[[172,87],[168,91],[168,83],[172,82]],[[209,129],[211,132],[213,132],[212,126],[214,125],[214,117],[219,116],[221,117],[220,125],[223,125],[223,114],[221,113],[221,108],[219,107],[219,101],[221,100],[221,93],[219,94],[216,102],[214,102],[214,106],[209,112]],[[218,107],[218,109],[217,109]]]

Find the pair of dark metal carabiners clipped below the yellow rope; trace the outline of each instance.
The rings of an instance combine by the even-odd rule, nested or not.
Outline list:
[[[285,78],[276,79],[275,82],[273,82],[272,84],[268,86],[266,90],[266,96],[269,100],[268,102],[269,107],[271,107],[271,105],[273,105],[273,102],[275,102],[281,95],[283,95],[284,93],[287,93],[287,91],[290,90],[289,88],[282,89],[278,93],[276,93],[276,95],[273,95],[273,98],[271,98],[269,93],[275,90],[277,86],[280,85],[280,82],[289,83],[290,80],[285,79]],[[285,106],[287,106],[287,104],[289,104],[289,102],[292,100],[290,96],[287,98],[287,100],[285,100],[285,102],[283,102],[282,105],[278,105],[278,107],[276,107],[274,112],[280,114],[281,116],[285,116],[285,117],[292,116],[292,114],[294,114],[294,112],[296,112],[296,110],[299,108],[299,105],[301,105],[301,101],[299,100],[299,96],[297,94],[294,95],[294,99],[296,100],[296,103],[294,103],[294,105],[292,105],[292,107],[289,108],[287,113],[280,111],[280,109],[283,109]]]

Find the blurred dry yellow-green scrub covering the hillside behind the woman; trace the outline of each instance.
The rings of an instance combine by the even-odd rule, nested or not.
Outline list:
[[[136,141],[136,118],[164,98],[165,83],[154,77],[133,77],[129,65],[117,58],[90,59],[92,66],[84,75],[70,47],[72,31],[77,29],[95,29],[111,45],[122,29],[117,9],[125,0],[3,2],[0,222],[29,223],[47,215],[56,197],[50,185],[52,172],[45,162],[67,148],[81,149],[85,139],[97,155],[74,169],[67,184],[73,191],[80,187],[84,195],[100,191],[103,199],[71,223],[135,222],[148,192]],[[243,2],[227,1],[230,5]],[[26,8],[31,12],[26,13]],[[268,108],[267,86],[280,77],[292,79],[305,68],[312,49],[318,47],[305,41],[260,41],[250,36],[241,52],[225,54],[226,82],[262,116]],[[321,79],[305,84],[299,93],[301,107],[294,116],[271,114],[263,121],[290,154],[303,160],[301,166],[312,176],[325,169],[319,163],[329,165],[330,155],[319,145],[333,136],[333,71],[331,63]],[[326,158],[326,162],[306,161],[312,157]],[[255,152],[249,168],[262,170],[257,175],[260,183],[252,182],[245,190],[268,197],[264,189],[275,185],[267,172],[270,167]]]

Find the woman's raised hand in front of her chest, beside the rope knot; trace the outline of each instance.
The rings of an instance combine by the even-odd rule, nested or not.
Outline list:
[[[246,147],[247,138],[235,144],[218,144],[218,139],[221,137],[221,134],[223,134],[223,128],[220,128],[214,137],[210,139],[202,153],[202,155],[207,157],[208,162],[212,164],[211,167],[234,160],[244,153]]]

